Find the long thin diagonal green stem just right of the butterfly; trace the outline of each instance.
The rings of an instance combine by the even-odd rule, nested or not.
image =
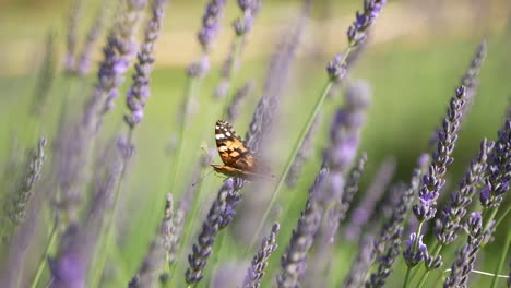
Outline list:
[[[255,233],[252,237],[252,241],[251,241],[250,245],[247,247],[243,254],[247,254],[249,251],[252,251],[253,245],[255,244],[255,241],[258,239],[258,236],[261,233],[261,230],[262,230],[262,228],[263,228],[263,226],[264,226],[264,224],[266,221],[266,218],[270,215],[270,211],[273,207],[273,204],[274,204],[274,202],[276,200],[278,191],[281,191],[281,189],[282,189],[282,187],[284,184],[284,180],[285,180],[287,173],[289,172],[290,167],[293,166],[293,161],[294,161],[294,159],[296,157],[296,154],[298,154],[298,151],[299,151],[299,148],[301,146],[301,143],[304,142],[304,140],[305,140],[305,137],[307,135],[307,132],[310,130],[310,127],[312,125],[312,122],[314,121],[316,116],[320,111],[321,106],[322,106],[322,104],[324,101],[324,98],[326,98],[326,95],[329,94],[329,91],[332,87],[332,84],[333,84],[333,82],[330,81],[330,80],[326,82],[326,84],[324,85],[324,87],[323,87],[323,89],[321,92],[320,97],[318,98],[318,101],[314,105],[314,109],[309,115],[309,118],[307,119],[306,124],[301,128],[298,140],[295,141],[295,146],[293,147],[292,153],[289,155],[289,158],[287,159],[286,167],[284,168],[284,171],[281,173],[278,182],[277,182],[277,184],[276,184],[276,187],[274,189],[274,192],[273,192],[272,199],[270,201],[270,204],[268,205],[266,209],[264,211],[264,214],[263,214],[263,217],[262,217],[262,219],[261,219],[261,221],[259,224],[259,227],[258,227],[258,229],[255,230]]]

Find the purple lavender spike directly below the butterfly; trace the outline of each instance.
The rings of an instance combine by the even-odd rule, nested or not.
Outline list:
[[[226,199],[229,191],[234,190],[234,179],[228,178],[224,181],[224,185],[218,191],[216,200],[207,213],[206,220],[202,224],[202,230],[199,233],[198,242],[193,244],[193,251],[188,255],[190,266],[186,272],[187,284],[199,283],[203,275],[202,269],[207,264],[207,259],[212,252],[213,243],[222,224],[222,214],[226,209]]]

